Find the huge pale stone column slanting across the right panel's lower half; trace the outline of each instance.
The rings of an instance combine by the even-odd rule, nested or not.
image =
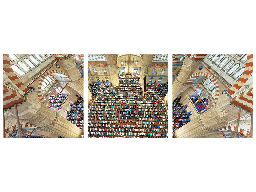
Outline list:
[[[175,131],[176,137],[200,137],[237,120],[238,108],[228,104],[231,98],[220,95],[216,105]],[[241,116],[247,113],[241,111]]]

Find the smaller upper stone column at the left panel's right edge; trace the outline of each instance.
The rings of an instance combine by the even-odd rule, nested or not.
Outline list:
[[[74,88],[84,98],[84,79],[77,70],[76,62],[74,57],[68,57],[66,60],[61,60],[65,66],[65,71],[72,81],[70,86]]]

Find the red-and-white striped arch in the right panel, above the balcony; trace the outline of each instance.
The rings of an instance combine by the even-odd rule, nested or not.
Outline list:
[[[192,76],[189,77],[187,83],[193,83],[193,81],[197,80],[198,78],[205,76],[204,79],[201,80],[204,81],[207,78],[211,78],[213,81],[213,84],[215,85],[215,97],[214,97],[214,101],[213,101],[213,106],[216,104],[217,100],[219,99],[219,95],[220,95],[220,89],[219,89],[219,84],[217,79],[210,73],[195,73]]]

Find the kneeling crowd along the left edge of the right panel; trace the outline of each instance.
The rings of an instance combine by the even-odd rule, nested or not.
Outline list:
[[[175,132],[183,125],[187,124],[191,113],[187,113],[186,106],[180,103],[180,99],[176,98],[172,103],[172,131]],[[174,136],[175,134],[173,134]]]

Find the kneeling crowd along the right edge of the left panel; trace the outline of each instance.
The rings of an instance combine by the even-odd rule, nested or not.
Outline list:
[[[79,127],[83,129],[84,125],[84,100],[80,96],[79,99],[72,105],[71,110],[68,113],[67,119]]]

